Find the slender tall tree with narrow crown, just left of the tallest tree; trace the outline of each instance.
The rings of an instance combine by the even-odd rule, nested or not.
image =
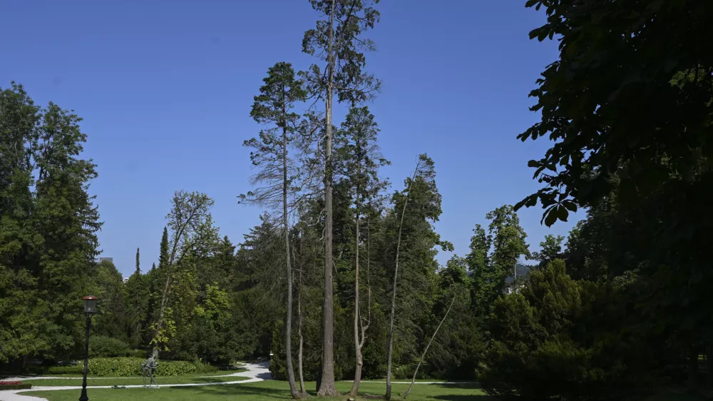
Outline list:
[[[292,397],[301,397],[294,382],[292,367],[292,264],[289,248],[289,208],[293,207],[291,197],[295,195],[294,181],[299,173],[292,161],[289,149],[294,148],[297,138],[299,115],[292,109],[295,103],[304,101],[307,92],[302,81],[295,79],[289,63],[279,62],[267,70],[262,81],[260,95],[255,96],[250,116],[258,123],[270,126],[260,131],[260,138],[245,141],[244,145],[255,148],[250,153],[252,164],[260,171],[252,178],[253,185],[263,185],[255,191],[240,196],[242,201],[281,209],[284,238],[284,263],[287,275],[287,319],[285,320],[285,352],[287,353],[287,377]]]

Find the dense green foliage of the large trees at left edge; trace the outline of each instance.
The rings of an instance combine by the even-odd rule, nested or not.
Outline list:
[[[98,210],[81,118],[0,88],[0,362],[81,352]]]

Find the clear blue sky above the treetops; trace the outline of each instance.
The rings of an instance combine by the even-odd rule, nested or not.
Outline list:
[[[515,136],[538,119],[528,93],[558,53],[553,42],[528,39],[545,15],[524,3],[383,0],[370,35],[378,51],[368,68],[384,82],[370,108],[393,163],[384,174],[401,188],[416,155],[434,158],[443,195],[436,228],[459,255],[489,210],[538,188],[527,162],[548,143]],[[5,0],[0,16],[0,86],[17,81],[37,103],[84,118],[103,256],[124,275],[137,247],[143,271],[158,260],[178,189],[214,198],[215,222],[234,243],[258,222],[260,210],[235,198],[251,174],[242,141],[260,128],[252,96],[275,62],[312,62],[301,53],[317,19],[309,1]],[[520,212],[531,250],[577,219],[548,229],[540,215]]]

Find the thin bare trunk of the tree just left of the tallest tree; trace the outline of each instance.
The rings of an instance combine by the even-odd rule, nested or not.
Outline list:
[[[284,116],[284,109],[282,110]],[[287,127],[282,126],[282,224],[284,225],[284,261],[287,265],[287,318],[284,328],[284,352],[287,357],[287,381],[292,398],[299,398],[297,385],[294,383],[292,368],[292,265],[289,260],[289,217],[287,215]]]

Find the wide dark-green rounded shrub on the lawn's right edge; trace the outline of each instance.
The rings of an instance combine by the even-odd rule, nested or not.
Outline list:
[[[525,400],[640,399],[650,359],[622,331],[620,296],[605,283],[572,280],[562,260],[534,270],[520,293],[496,300],[483,387]]]

